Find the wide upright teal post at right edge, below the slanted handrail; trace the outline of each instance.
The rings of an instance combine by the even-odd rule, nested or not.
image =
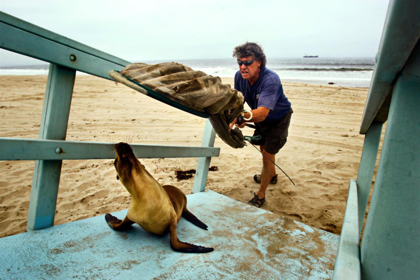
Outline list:
[[[362,278],[420,275],[420,42],[399,76],[361,250]]]

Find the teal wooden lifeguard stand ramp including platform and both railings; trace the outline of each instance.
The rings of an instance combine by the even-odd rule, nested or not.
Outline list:
[[[418,279],[420,275],[420,6],[391,1],[360,133],[357,181],[341,238],[204,191],[214,130],[202,147],[133,144],[139,158],[198,157],[189,208],[208,231],[180,220],[183,241],[209,254],[171,250],[139,226],[110,229],[102,216],[53,225],[61,161],[110,159],[105,143],[66,141],[76,70],[104,79],[129,62],[0,13],[0,47],[50,64],[39,139],[1,138],[0,160],[36,160],[28,232],[0,239],[2,279]],[[30,42],[30,44],[28,44]],[[362,242],[360,232],[383,122],[388,119]],[[64,152],[63,152],[64,151]],[[122,218],[127,210],[114,213]],[[338,252],[337,252],[338,246]],[[333,264],[334,260],[334,272]]]

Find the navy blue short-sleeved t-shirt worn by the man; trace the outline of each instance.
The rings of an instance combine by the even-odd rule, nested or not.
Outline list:
[[[260,76],[252,86],[248,80],[242,78],[240,71],[236,72],[235,89],[242,92],[252,110],[261,106],[270,109],[265,118],[267,123],[280,120],[291,108],[291,103],[283,93],[280,78],[266,67],[261,70]]]

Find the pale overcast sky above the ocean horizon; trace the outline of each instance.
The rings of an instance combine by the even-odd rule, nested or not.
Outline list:
[[[267,57],[374,57],[388,0],[1,0],[0,10],[131,62],[231,58],[258,42]],[[1,36],[1,34],[0,34]],[[0,64],[40,64],[5,50]]]

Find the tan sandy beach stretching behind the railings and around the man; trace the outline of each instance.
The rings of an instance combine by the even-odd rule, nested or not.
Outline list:
[[[47,76],[0,76],[0,136],[38,138]],[[233,86],[233,78],[222,78]],[[292,103],[289,137],[276,163],[263,209],[339,234],[350,179],[356,179],[364,136],[359,126],[367,89],[283,82]],[[247,106],[246,106],[247,107]],[[205,119],[165,105],[113,81],[76,76],[66,139],[200,146]],[[242,129],[252,136],[251,128]],[[206,189],[247,202],[259,188],[260,152],[234,149],[216,136],[220,156],[210,165]],[[196,168],[197,158],[140,159],[162,184],[191,194],[194,178],[176,170]],[[26,229],[34,161],[0,162],[0,237]],[[55,225],[127,209],[129,193],[116,180],[113,160],[64,160]],[[191,210],[191,209],[190,209]],[[192,210],[193,212],[193,210]],[[104,220],[105,222],[105,220]]]

